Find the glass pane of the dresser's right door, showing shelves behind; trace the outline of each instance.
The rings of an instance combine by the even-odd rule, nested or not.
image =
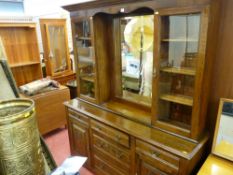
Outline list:
[[[200,34],[200,14],[161,17],[159,120],[191,124]]]

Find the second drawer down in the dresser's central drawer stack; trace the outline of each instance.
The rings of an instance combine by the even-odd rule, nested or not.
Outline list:
[[[114,157],[119,162],[124,162],[124,164],[130,163],[130,152],[128,149],[114,145],[100,136],[93,135],[93,144],[102,152],[106,152],[111,157]]]

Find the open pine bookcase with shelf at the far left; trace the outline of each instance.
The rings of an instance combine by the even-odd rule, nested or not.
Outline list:
[[[17,86],[42,78],[35,23],[0,23],[0,37]]]

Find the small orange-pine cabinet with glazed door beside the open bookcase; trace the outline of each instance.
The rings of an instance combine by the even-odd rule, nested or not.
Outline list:
[[[47,76],[61,84],[75,79],[71,68],[66,19],[40,19]]]

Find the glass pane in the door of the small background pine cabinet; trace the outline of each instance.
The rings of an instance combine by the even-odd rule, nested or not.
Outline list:
[[[64,26],[49,25],[48,36],[53,74],[63,72],[68,69]]]

